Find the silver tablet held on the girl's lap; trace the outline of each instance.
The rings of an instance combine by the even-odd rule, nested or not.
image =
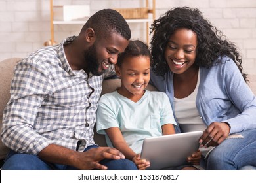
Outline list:
[[[141,159],[150,161],[148,169],[186,165],[186,158],[198,150],[202,134],[202,131],[192,131],[146,138],[142,145]]]

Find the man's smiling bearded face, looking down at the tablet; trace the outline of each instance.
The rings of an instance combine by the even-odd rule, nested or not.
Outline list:
[[[128,43],[127,39],[116,33],[107,38],[98,38],[85,51],[87,71],[93,75],[102,75],[110,65],[116,64],[118,54],[125,50]]]

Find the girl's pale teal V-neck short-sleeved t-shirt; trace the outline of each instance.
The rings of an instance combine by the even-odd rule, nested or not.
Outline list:
[[[102,95],[97,110],[97,132],[106,135],[104,129],[119,127],[128,146],[140,153],[146,137],[162,135],[161,126],[177,125],[167,95],[146,90],[136,103],[117,91]],[[112,147],[106,135],[108,146]]]

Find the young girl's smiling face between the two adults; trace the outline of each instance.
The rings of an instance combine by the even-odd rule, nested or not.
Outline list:
[[[116,65],[116,73],[121,78],[118,93],[139,101],[150,80],[150,58],[148,56],[130,56],[123,60],[121,68]]]

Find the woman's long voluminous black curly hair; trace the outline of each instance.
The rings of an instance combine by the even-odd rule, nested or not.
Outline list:
[[[188,7],[173,8],[151,25],[152,69],[157,75],[164,76],[169,71],[164,57],[165,47],[169,37],[180,28],[190,29],[197,35],[196,65],[209,68],[220,62],[221,57],[228,56],[234,60],[244,80],[248,81],[247,74],[242,72],[242,57],[236,46],[228,41],[222,31],[203,18],[200,10]]]

